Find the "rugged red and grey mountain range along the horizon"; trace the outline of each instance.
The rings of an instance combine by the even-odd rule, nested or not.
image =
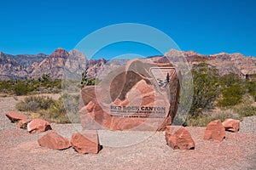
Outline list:
[[[166,56],[175,59],[177,55],[183,55],[187,59],[189,65],[197,64],[202,61],[216,67],[220,75],[229,72],[235,72],[239,75],[256,73],[256,58],[246,57],[242,54],[212,54],[202,55],[193,51],[182,52],[170,50],[165,56],[148,57],[156,62],[167,62]],[[119,65],[125,65],[127,59],[90,59],[88,62],[85,55],[77,50],[71,50],[67,53],[63,48],[57,48],[53,54],[3,54],[0,52],[0,79],[24,79],[42,77],[43,74],[50,74],[53,79],[60,79],[65,69],[73,73],[73,67],[79,67],[80,71],[84,71],[85,63],[88,63],[88,77],[97,77],[99,72],[106,68],[113,70]],[[104,69],[103,69],[104,68]],[[79,71],[77,74],[80,74]],[[103,72],[107,74],[107,72]]]

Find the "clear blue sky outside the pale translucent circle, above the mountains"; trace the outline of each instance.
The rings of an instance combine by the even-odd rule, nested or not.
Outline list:
[[[184,51],[256,56],[255,8],[253,0],[5,0],[0,3],[0,51],[69,51],[92,31],[128,22],[164,31]]]

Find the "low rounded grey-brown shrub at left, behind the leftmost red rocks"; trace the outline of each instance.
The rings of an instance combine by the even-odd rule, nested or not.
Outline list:
[[[46,96],[29,96],[16,105],[19,111],[47,110],[53,105],[54,100]]]

